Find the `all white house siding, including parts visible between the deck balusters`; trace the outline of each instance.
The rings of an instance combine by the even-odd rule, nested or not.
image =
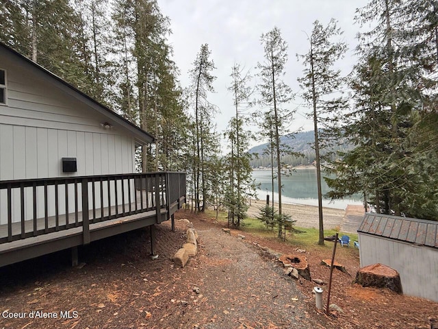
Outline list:
[[[129,130],[119,125],[105,129],[102,123],[106,119],[99,112],[57,88],[45,73],[28,71],[19,58],[3,56],[2,51],[2,67],[8,70],[8,102],[0,107],[0,180],[135,172],[136,138]],[[77,158],[77,172],[62,172],[64,157]],[[69,195],[73,195],[73,189],[70,184]],[[37,193],[43,195],[43,188],[38,187]],[[54,215],[54,195],[51,186],[49,216]],[[6,199],[7,191],[0,191],[1,204]],[[19,192],[13,191],[12,221],[20,221],[19,200]],[[62,215],[64,186],[58,187],[58,201]],[[96,206],[100,207],[99,202]],[[25,219],[31,219],[30,189],[25,191],[25,204]],[[69,199],[68,208],[73,210],[73,207],[74,200]],[[37,213],[38,217],[44,216],[42,197],[37,199]],[[0,224],[5,223],[7,209],[1,208]]]

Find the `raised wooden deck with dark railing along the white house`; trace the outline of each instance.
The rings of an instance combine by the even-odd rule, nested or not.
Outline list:
[[[103,193],[95,194],[92,188],[92,195],[88,195],[88,190],[91,191],[88,183],[101,184],[102,182],[114,181],[115,189],[117,184],[130,185],[127,189],[127,195],[117,197],[117,206],[96,208],[96,199],[101,199],[103,202]],[[149,186],[142,186],[144,182],[148,182]],[[58,199],[65,197],[68,209],[68,195],[55,194],[56,206],[55,215],[48,216],[47,199],[50,193],[44,193],[44,204],[46,204],[46,216],[32,219],[25,219],[26,202],[21,197],[19,212],[20,218],[13,218],[12,208],[13,204],[13,189],[21,190],[21,195],[25,195],[23,190],[25,186],[36,186],[41,184],[39,180],[22,180],[15,182],[0,182],[1,188],[8,190],[8,199],[2,202],[0,206],[8,208],[8,223],[0,225],[0,267],[16,263],[29,258],[42,256],[51,252],[56,252],[62,249],[72,248],[73,263],[77,263],[77,249],[79,245],[85,245],[108,236],[136,230],[138,228],[150,227],[153,230],[155,223],[161,223],[168,219],[172,219],[173,214],[185,202],[185,174],[182,173],[151,173],[151,174],[131,174],[131,175],[113,175],[113,176],[89,176],[87,178],[72,179],[50,179],[43,182],[45,186],[48,184],[80,184],[82,185],[81,195],[75,195],[73,203],[75,211],[67,215],[62,214],[63,206],[58,204]],[[111,186],[108,183],[108,186]],[[134,186],[136,186],[134,188]],[[35,190],[35,187],[34,187]],[[75,190],[77,187],[75,186]],[[99,188],[96,188],[99,191]],[[102,188],[101,188],[102,191]],[[114,194],[114,193],[113,193]],[[124,192],[122,193],[124,194]],[[36,193],[31,196],[36,200]],[[53,197],[53,195],[52,195]],[[73,197],[70,195],[70,198]],[[111,193],[108,188],[107,204],[111,204]],[[17,198],[18,199],[18,198]],[[78,202],[81,199],[81,202]],[[125,200],[133,201],[126,203]],[[0,199],[3,201],[3,199]],[[88,202],[90,200],[90,202]],[[123,200],[123,203],[117,202]],[[114,199],[113,199],[114,202]],[[72,202],[70,202],[72,204]],[[88,209],[88,211],[79,211],[78,204],[81,209]],[[88,206],[90,204],[90,207]],[[158,205],[155,206],[155,205]],[[15,205],[16,206],[16,205]],[[35,206],[33,208],[36,208]],[[36,211],[34,210],[34,215]],[[19,221],[18,221],[19,220]],[[172,225],[173,227],[173,225]],[[153,233],[153,232],[151,232]],[[153,247],[153,245],[152,245]],[[76,259],[75,259],[76,258]]]

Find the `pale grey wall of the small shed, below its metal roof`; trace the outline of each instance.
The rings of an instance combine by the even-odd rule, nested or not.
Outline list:
[[[403,293],[438,302],[438,250],[359,232],[361,267],[381,263],[400,273]]]

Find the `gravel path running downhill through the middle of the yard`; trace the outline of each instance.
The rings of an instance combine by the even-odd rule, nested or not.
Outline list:
[[[198,328],[315,328],[296,282],[277,262],[218,228],[196,229],[201,252],[189,267],[196,266],[203,295],[194,313],[202,314],[195,317]]]

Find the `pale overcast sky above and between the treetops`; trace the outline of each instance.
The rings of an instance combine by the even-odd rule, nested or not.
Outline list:
[[[289,60],[285,68],[285,83],[294,93],[300,88],[297,77],[302,75],[302,63],[296,53],[306,53],[309,49],[307,34],[311,34],[313,21],[318,19],[323,25],[331,18],[339,21],[344,31],[343,38],[349,45],[348,52],[340,67],[349,73],[357,60],[354,55],[355,36],[359,26],[353,22],[356,8],[366,5],[365,0],[158,0],[159,8],[170,19],[172,35],[169,37],[173,47],[174,60],[181,75],[179,80],[184,88],[190,84],[188,71],[196,58],[201,45],[207,43],[211,59],[216,65],[213,74],[216,94],[209,100],[219,107],[216,114],[218,132],[223,132],[233,116],[232,95],[227,91],[231,84],[231,68],[234,63],[250,69],[257,74],[255,66],[263,61],[262,33],[274,26],[281,29],[283,39],[288,43]],[[255,78],[257,84],[257,77]],[[299,97],[291,103],[298,108],[292,130],[302,127],[313,130],[312,121],[305,118],[308,109],[300,106]]]

